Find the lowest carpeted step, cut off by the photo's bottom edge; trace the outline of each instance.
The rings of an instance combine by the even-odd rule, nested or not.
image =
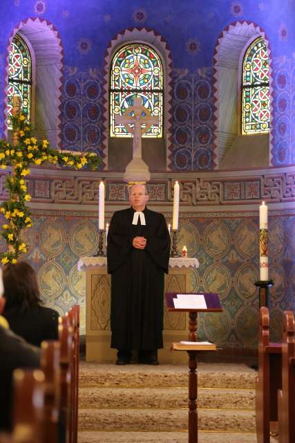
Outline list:
[[[187,432],[79,431],[78,443],[187,443]],[[198,443],[256,443],[255,433],[198,432]],[[270,437],[271,443],[277,443]]]

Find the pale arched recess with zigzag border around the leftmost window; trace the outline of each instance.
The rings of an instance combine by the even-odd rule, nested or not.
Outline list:
[[[55,26],[46,19],[32,17],[13,28],[6,48],[5,91],[8,88],[9,53],[15,34],[25,39],[32,51],[32,71],[35,77],[35,98],[32,96],[32,123],[37,137],[48,138],[50,145],[61,147],[61,79],[64,48]],[[32,79],[34,80],[34,78]],[[7,94],[3,100],[3,130],[7,129]]]

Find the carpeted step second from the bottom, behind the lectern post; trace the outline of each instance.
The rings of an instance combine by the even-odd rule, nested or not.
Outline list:
[[[79,430],[186,431],[187,409],[79,409]],[[255,430],[254,410],[198,409],[200,431]]]

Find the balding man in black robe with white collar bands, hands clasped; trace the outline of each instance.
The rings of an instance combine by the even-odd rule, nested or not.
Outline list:
[[[164,216],[146,208],[142,184],[129,190],[131,208],[114,213],[108,230],[111,273],[111,347],[117,364],[158,364],[163,347],[164,272],[168,273],[170,236]]]

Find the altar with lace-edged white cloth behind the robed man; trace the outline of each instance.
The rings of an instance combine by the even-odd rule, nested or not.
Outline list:
[[[190,292],[191,269],[198,265],[196,258],[170,258],[164,291]],[[106,271],[106,257],[82,257],[77,267],[86,271],[86,361],[115,363],[116,350],[110,347],[111,275]],[[164,300],[164,347],[158,353],[160,363],[187,363],[183,352],[171,352],[170,348],[171,343],[183,340],[188,334],[188,314],[169,312]]]

